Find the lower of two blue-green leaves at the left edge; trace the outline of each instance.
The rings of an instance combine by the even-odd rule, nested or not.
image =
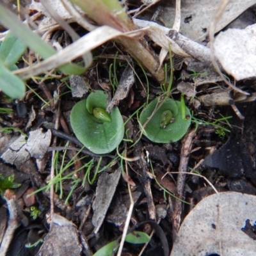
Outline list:
[[[0,62],[0,89],[13,99],[20,99],[24,97],[26,87],[24,81],[18,76],[12,74],[3,63]]]

